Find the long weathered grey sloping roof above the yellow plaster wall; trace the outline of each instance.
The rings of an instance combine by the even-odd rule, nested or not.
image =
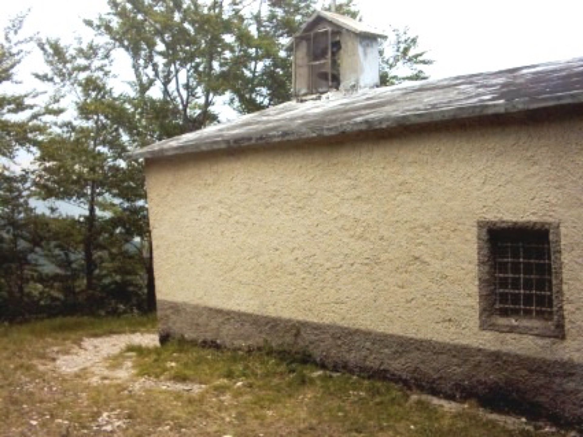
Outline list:
[[[583,58],[287,102],[133,153],[195,153],[583,102]]]

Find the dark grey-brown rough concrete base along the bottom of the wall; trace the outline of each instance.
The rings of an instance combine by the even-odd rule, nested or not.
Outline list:
[[[456,399],[583,425],[583,365],[361,329],[158,301],[160,339],[225,347],[265,344],[326,367],[391,379]]]

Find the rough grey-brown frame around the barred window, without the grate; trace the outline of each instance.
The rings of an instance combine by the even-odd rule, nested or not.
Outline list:
[[[491,233],[498,230],[547,231],[551,253],[553,286],[553,318],[550,320],[501,316],[496,314],[496,283]],[[533,221],[478,221],[478,285],[480,329],[518,334],[529,334],[564,339],[563,273],[561,268],[561,237],[557,222]]]

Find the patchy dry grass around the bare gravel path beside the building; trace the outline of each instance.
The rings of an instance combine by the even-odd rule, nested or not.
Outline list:
[[[509,429],[469,406],[448,413],[389,382],[322,371],[273,351],[243,353],[182,342],[131,346],[138,376],[192,382],[199,393],[90,385],[37,363],[86,336],[153,332],[153,318],[66,318],[0,328],[0,435],[103,435],[103,413],[124,436],[553,436]],[[126,353],[125,357],[128,356]],[[115,364],[121,358],[111,360]]]

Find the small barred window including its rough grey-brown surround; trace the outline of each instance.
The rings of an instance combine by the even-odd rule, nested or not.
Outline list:
[[[563,337],[559,226],[479,222],[480,326]]]

